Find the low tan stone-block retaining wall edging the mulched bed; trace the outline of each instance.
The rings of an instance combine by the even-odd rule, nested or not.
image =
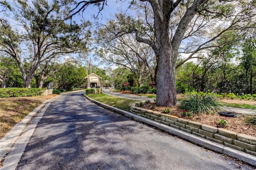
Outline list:
[[[132,106],[132,113],[256,156],[256,137]]]

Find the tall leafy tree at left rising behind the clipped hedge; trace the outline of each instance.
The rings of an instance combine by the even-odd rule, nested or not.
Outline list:
[[[32,1],[30,5],[20,0],[16,6],[19,10],[14,13],[14,18],[22,32],[12,27],[8,19],[1,18],[0,51],[16,60],[24,87],[30,88],[35,76],[37,86],[42,88],[47,78],[44,74],[52,60],[60,63],[61,57],[69,53],[87,50],[90,23],[66,23],[63,20],[66,14],[58,1]],[[28,67],[25,67],[24,59]]]

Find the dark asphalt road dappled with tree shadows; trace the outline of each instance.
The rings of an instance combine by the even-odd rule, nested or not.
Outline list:
[[[66,93],[38,123],[18,170],[254,169]]]

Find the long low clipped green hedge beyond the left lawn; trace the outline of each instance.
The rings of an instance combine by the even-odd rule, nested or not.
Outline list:
[[[25,97],[25,96],[40,96],[44,92],[45,89],[37,89],[37,88],[8,88],[8,89],[0,89],[0,97]]]

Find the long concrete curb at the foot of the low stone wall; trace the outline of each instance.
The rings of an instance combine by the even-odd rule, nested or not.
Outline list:
[[[231,156],[233,158],[236,158],[238,160],[242,160],[242,161],[244,161],[244,162],[246,162],[248,164],[256,166],[256,156],[250,155],[250,154],[245,153],[245,152],[241,152],[240,150],[236,150],[236,149],[230,148],[228,146],[224,146],[222,144],[218,144],[216,142],[212,142],[212,141],[207,140],[205,138],[200,138],[199,136],[195,136],[193,134],[184,132],[182,130],[178,130],[176,128],[169,127],[169,126],[164,125],[162,123],[158,123],[156,121],[152,121],[150,119],[147,119],[147,118],[144,118],[144,117],[140,117],[140,116],[135,115],[133,113],[130,113],[130,112],[127,112],[127,111],[123,111],[121,109],[117,109],[115,107],[112,107],[112,106],[106,105],[104,103],[101,103],[99,101],[96,101],[94,99],[91,99],[90,97],[88,97],[86,95],[85,95],[85,97],[89,101],[92,101],[92,102],[96,103],[97,105],[100,105],[101,107],[104,107],[104,108],[109,109],[111,111],[115,111],[117,113],[125,115],[126,117],[132,118],[135,121],[146,123],[146,124],[151,125],[153,127],[156,127],[156,128],[162,129],[162,130],[164,130],[166,132],[169,132],[170,134],[174,134],[176,136],[180,136],[181,138],[186,139],[186,140],[188,140],[188,141],[190,141],[192,143],[198,144],[200,146],[204,146],[204,147],[206,147],[206,148],[208,148],[210,150],[214,150],[215,152],[229,155],[229,156]]]

